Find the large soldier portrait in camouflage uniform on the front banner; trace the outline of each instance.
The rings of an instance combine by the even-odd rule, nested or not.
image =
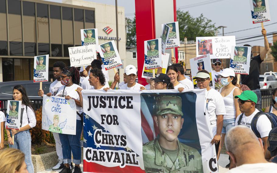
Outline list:
[[[165,95],[156,98],[154,120],[160,134],[142,147],[146,173],[203,172],[199,152],[178,139],[184,123],[182,116],[181,97]]]

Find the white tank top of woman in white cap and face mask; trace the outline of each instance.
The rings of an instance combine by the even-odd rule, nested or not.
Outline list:
[[[226,115],[223,115],[223,119],[231,119],[236,118],[236,108],[234,103],[234,96],[233,92],[235,88],[238,88],[237,86],[233,88],[233,90],[226,96],[223,97],[225,109],[226,109]],[[221,93],[222,88],[220,88],[219,93]]]

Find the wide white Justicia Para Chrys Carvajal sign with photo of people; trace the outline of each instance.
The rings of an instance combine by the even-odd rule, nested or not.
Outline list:
[[[230,58],[236,37],[196,37],[196,43],[196,56],[210,54],[211,59]]]

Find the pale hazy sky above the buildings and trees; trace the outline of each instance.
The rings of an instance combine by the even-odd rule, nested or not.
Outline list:
[[[47,1],[62,2],[62,0]],[[86,1],[115,5],[115,0]],[[267,30],[267,33],[277,33],[277,10],[275,10],[277,8],[277,1],[268,0],[268,2],[270,6],[271,21],[264,22],[265,29]],[[126,17],[133,18],[135,16],[135,0],[117,0],[117,3],[119,6],[125,7]],[[189,11],[193,17],[198,17],[203,14],[204,17],[212,20],[212,23],[215,23],[217,27],[226,26],[226,28],[224,28],[224,35],[234,35],[236,36],[236,40],[257,36],[259,34],[261,35],[261,24],[252,24],[250,0],[176,0],[176,6],[177,9],[180,9],[184,12]],[[238,30],[245,31],[234,32]],[[222,36],[222,29],[219,29],[218,36]],[[272,35],[268,37],[272,37]],[[249,40],[237,41],[237,45],[250,44],[251,46],[264,46],[264,41],[262,38],[263,37],[258,37]],[[272,43],[272,38],[268,38],[268,41],[269,43]]]

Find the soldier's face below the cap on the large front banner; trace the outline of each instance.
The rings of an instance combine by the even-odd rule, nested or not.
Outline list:
[[[159,128],[161,139],[166,139],[170,142],[177,140],[184,123],[184,118],[181,115],[167,113],[154,116],[154,119]]]

